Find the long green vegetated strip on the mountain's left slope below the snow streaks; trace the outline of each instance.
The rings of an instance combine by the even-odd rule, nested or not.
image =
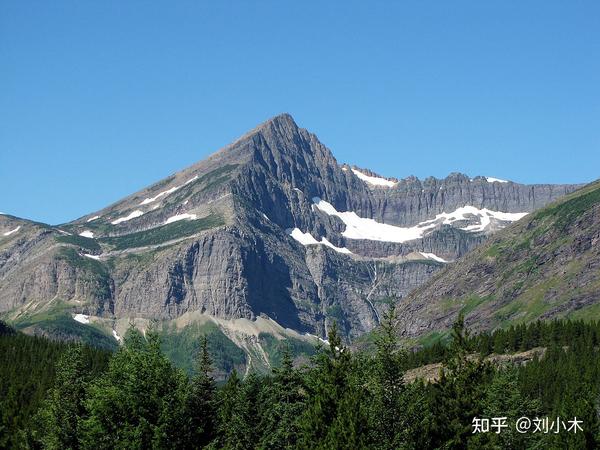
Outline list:
[[[179,220],[150,230],[138,231],[124,236],[100,238],[99,240],[102,243],[111,245],[115,250],[123,250],[126,248],[163,244],[224,224],[223,217],[212,214],[197,220]]]

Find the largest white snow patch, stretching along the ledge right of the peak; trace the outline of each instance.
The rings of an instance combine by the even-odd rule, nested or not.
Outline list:
[[[371,241],[383,242],[407,242],[422,238],[428,231],[433,230],[439,225],[449,225],[461,220],[469,220],[474,216],[479,218],[480,223],[460,228],[463,231],[478,232],[485,230],[491,223],[491,219],[514,222],[527,213],[505,213],[501,211],[491,211],[489,209],[478,209],[474,206],[463,206],[451,213],[441,213],[434,219],[426,220],[412,227],[398,227],[385,223],[376,222],[373,219],[359,217],[355,212],[338,212],[335,207],[321,200],[319,197],[313,198],[314,206],[320,211],[330,216],[339,217],[346,225],[342,235],[348,239],[366,239]],[[299,231],[299,230],[298,230]],[[312,236],[311,236],[312,237]]]

